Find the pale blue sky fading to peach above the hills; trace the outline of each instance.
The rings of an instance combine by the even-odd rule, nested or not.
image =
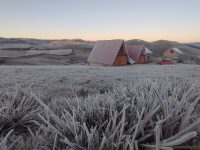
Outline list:
[[[200,0],[0,0],[0,37],[200,41]]]

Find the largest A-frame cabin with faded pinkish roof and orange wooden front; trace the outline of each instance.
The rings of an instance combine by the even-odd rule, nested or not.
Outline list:
[[[97,41],[88,58],[89,65],[95,66],[122,66],[127,62],[124,40]]]

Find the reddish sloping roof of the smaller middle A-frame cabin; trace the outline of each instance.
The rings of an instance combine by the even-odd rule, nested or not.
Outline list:
[[[127,45],[126,49],[128,56],[137,63],[144,49],[144,45]]]

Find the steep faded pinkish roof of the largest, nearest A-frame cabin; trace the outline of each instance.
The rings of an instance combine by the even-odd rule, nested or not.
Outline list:
[[[88,62],[112,65],[123,44],[123,40],[97,41],[90,53]]]

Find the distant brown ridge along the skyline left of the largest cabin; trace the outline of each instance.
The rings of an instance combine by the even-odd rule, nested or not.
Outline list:
[[[26,39],[26,38],[0,38],[1,49],[91,49],[94,42],[84,41],[82,39],[63,39],[63,40],[40,40],[40,39]]]

